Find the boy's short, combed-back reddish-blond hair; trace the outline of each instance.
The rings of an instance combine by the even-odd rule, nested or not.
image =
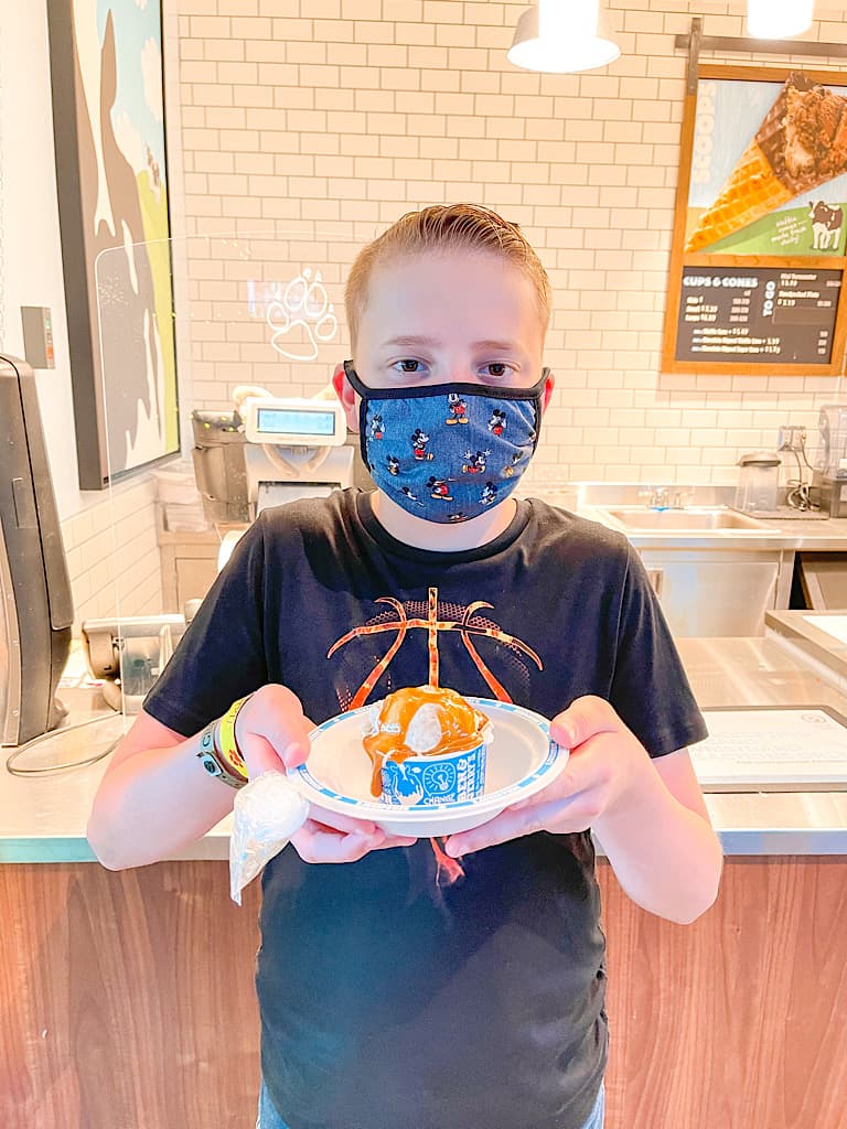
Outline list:
[[[405,255],[456,247],[501,255],[523,271],[535,290],[539,316],[547,332],[550,322],[550,279],[517,224],[510,224],[490,208],[479,204],[433,204],[422,211],[401,216],[356,256],[344,291],[347,324],[353,349],[368,300],[370,275],[377,266]]]

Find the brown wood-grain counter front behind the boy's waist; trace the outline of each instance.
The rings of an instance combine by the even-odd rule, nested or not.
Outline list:
[[[842,1129],[847,860],[730,858],[687,927],[600,881],[606,1129]],[[5,1129],[252,1129],[257,883],[239,909],[221,861],[7,865],[0,907]]]

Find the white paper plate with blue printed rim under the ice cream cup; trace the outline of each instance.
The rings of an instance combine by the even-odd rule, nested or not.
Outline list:
[[[399,835],[447,835],[468,831],[532,796],[565,768],[568,752],[550,739],[550,723],[540,714],[490,698],[469,698],[491,721],[486,790],[477,799],[427,807],[382,804],[370,795],[370,759],[361,737],[370,706],[339,714],[312,730],[305,764],[288,770],[300,795],[331,812],[372,820]]]

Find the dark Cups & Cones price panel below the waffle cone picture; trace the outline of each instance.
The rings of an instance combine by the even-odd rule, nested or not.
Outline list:
[[[826,365],[841,271],[686,266],[676,358]]]

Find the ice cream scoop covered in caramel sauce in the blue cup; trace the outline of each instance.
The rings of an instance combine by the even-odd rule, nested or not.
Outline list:
[[[370,733],[363,737],[365,752],[373,764],[373,796],[382,795],[382,770],[386,761],[402,764],[414,756],[470,752],[491,738],[488,718],[455,690],[405,686],[376,706]]]

